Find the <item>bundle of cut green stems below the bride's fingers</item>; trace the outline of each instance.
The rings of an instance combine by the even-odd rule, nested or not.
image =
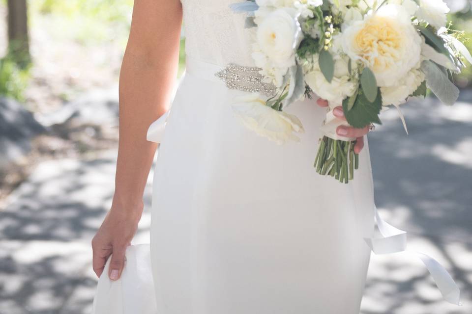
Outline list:
[[[341,183],[354,179],[354,169],[359,168],[359,155],[354,153],[356,141],[335,140],[324,136],[315,159],[316,172],[331,176]]]

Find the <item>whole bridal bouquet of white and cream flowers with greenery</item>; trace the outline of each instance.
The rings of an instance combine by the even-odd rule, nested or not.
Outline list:
[[[428,88],[446,105],[459,96],[452,73],[472,56],[464,32],[451,29],[442,0],[247,0],[231,5],[255,28],[252,57],[271,97],[254,94],[233,105],[253,131],[279,144],[299,140],[300,120],[283,111],[314,92],[329,103],[315,168],[348,183],[358,156],[340,125],[381,124],[379,114]],[[264,106],[261,106],[264,105]],[[342,105],[346,121],[332,110]],[[405,119],[400,112],[405,130]]]

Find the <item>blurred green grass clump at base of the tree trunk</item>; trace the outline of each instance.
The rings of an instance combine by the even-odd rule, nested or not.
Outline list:
[[[24,90],[29,81],[29,67],[22,68],[6,56],[0,59],[0,95],[23,102]]]

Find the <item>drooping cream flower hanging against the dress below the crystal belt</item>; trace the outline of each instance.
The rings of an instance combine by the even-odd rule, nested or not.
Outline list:
[[[249,130],[279,145],[289,140],[299,142],[294,132],[305,131],[296,116],[272,109],[257,93],[237,98],[232,109]]]

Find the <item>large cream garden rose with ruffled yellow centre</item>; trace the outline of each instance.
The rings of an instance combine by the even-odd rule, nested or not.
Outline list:
[[[394,86],[419,62],[421,36],[403,6],[385,4],[343,29],[343,50],[369,67],[379,86]]]

